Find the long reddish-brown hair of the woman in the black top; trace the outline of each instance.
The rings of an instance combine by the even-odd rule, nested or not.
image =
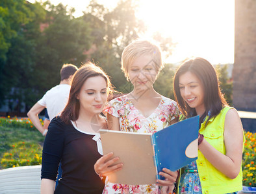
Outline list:
[[[60,118],[66,124],[71,124],[71,120],[75,121],[79,116],[80,103],[76,96],[79,94],[83,87],[84,81],[88,78],[101,76],[107,83],[107,94],[112,91],[112,84],[110,83],[109,76],[100,68],[94,65],[94,63],[86,63],[75,72],[71,81],[70,97],[64,110],[62,111]]]

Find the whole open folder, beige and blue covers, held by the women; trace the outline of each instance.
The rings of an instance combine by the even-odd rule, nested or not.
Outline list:
[[[155,184],[162,168],[171,171],[198,157],[199,116],[170,125],[156,133],[99,130],[103,154],[120,157],[123,169],[109,175],[112,183]],[[119,163],[118,162],[118,163]]]

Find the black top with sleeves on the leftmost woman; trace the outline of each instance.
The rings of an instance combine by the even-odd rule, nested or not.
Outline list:
[[[41,178],[56,180],[61,160],[62,178],[55,194],[102,193],[104,183],[94,171],[101,155],[93,137],[64,124],[59,116],[51,121],[44,142]]]

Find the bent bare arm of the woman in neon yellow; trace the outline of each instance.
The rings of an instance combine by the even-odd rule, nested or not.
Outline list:
[[[211,164],[229,178],[236,178],[242,163],[243,129],[235,109],[230,109],[225,116],[224,143],[226,155],[220,153],[206,140],[199,145],[199,150]]]

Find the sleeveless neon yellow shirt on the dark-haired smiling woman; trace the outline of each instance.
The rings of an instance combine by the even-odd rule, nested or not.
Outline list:
[[[226,153],[224,144],[225,115],[229,109],[231,107],[224,107],[217,116],[207,122],[207,127],[205,128],[206,117],[205,122],[201,124],[199,129],[199,133],[205,136],[205,140],[224,155]],[[242,167],[238,176],[231,179],[212,166],[199,150],[196,164],[203,194],[233,193],[242,190]]]

